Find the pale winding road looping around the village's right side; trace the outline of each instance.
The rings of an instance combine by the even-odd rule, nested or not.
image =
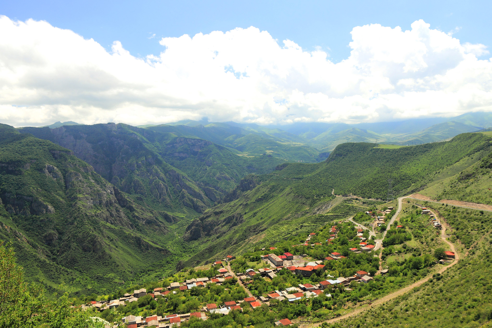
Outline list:
[[[398,198],[398,209],[397,209],[397,212],[395,213],[395,215],[393,215],[393,217],[391,218],[390,222],[388,223],[388,228],[386,229],[386,231],[383,233],[383,238],[382,239],[378,239],[376,241],[381,241],[384,239],[384,237],[386,236],[386,232],[389,230],[390,226],[395,222],[396,218],[398,217],[398,214],[400,214],[400,211],[401,211],[401,208],[402,208],[402,201],[403,199],[405,198],[412,198],[412,199],[416,199],[416,198],[413,198],[413,197],[400,197]],[[432,211],[431,211],[432,212]],[[433,212],[432,212],[433,213]],[[434,216],[435,216],[435,213],[433,213]],[[437,217],[437,216],[435,216]],[[358,225],[360,225],[359,223],[355,222],[352,220],[352,218],[349,219],[349,221],[351,222],[354,222]],[[460,259],[460,256],[459,254],[455,251],[455,246],[453,245],[453,243],[451,243],[449,240],[446,239],[446,229],[448,228],[447,224],[445,222],[441,222],[442,224],[442,230],[441,230],[441,239],[444,240],[444,242],[446,242],[449,247],[451,248],[451,251],[453,253],[455,253],[455,259],[453,261],[453,263],[451,263],[450,265],[448,266],[445,266],[445,267],[442,267],[440,268],[437,272],[438,273],[443,273],[444,271],[446,271],[448,268],[451,268],[453,267],[454,265],[456,265],[458,263],[458,260]],[[360,225],[361,226],[361,225]],[[363,227],[363,226],[361,226]],[[363,227],[365,228],[365,227]],[[367,228],[365,228],[367,229]],[[369,229],[368,229],[369,230]],[[369,233],[370,233],[370,230],[369,230]],[[373,235],[373,233],[371,234]],[[381,244],[381,242],[379,244]],[[377,246],[376,246],[377,247]],[[431,278],[431,274],[429,274],[427,277],[423,278],[423,279],[420,279],[419,281],[416,281],[414,282],[413,284],[407,286],[407,287],[404,287],[396,292],[393,292],[391,294],[388,294],[382,298],[378,298],[376,300],[374,300],[372,303],[369,303],[369,305],[362,305],[362,306],[359,306],[357,307],[354,311],[350,312],[350,313],[347,313],[345,315],[342,315],[342,316],[339,316],[339,317],[336,317],[336,318],[333,318],[333,319],[330,319],[330,320],[325,320],[325,321],[322,321],[322,322],[318,322],[318,323],[315,323],[315,324],[301,324],[299,325],[300,328],[314,328],[314,327],[319,327],[323,324],[323,322],[326,322],[328,324],[332,324],[334,322],[338,322],[338,321],[341,321],[341,320],[344,320],[344,319],[347,319],[347,318],[350,318],[350,317],[353,317],[363,311],[366,311],[374,306],[377,306],[377,305],[380,305],[382,303],[385,303],[391,299],[394,299],[394,298],[397,298],[403,294],[405,294],[406,292],[409,292],[411,291],[412,289],[414,289],[415,287],[418,287],[420,285],[422,285],[423,283],[427,282],[430,278]]]

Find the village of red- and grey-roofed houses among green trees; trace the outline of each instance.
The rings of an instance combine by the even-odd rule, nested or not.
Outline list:
[[[387,212],[385,214],[391,213],[392,210],[393,208],[391,207],[386,209]],[[372,214],[371,211],[365,214],[374,218],[377,225],[384,224],[385,216],[377,216]],[[429,214],[433,226],[440,229],[440,224],[430,210],[422,208],[421,214]],[[398,225],[398,229],[402,229],[402,226]],[[362,226],[345,221],[335,226],[325,227],[320,231],[309,233],[301,243],[258,249],[254,254],[249,256],[246,254],[240,259],[237,259],[234,255],[227,255],[209,265],[210,270],[216,272],[214,276],[173,281],[168,286],[154,288],[150,291],[142,288],[134,290],[131,294],[126,293],[118,299],[92,301],[88,306],[98,311],[111,310],[121,305],[139,302],[139,299],[143,297],[148,298],[150,296],[151,299],[158,301],[166,299],[170,295],[187,295],[184,293],[193,292],[201,288],[210,289],[213,285],[224,286],[229,289],[232,285],[238,284],[247,293],[247,297],[241,299],[203,304],[195,312],[162,314],[160,316],[156,314],[145,317],[127,315],[122,319],[122,322],[128,328],[173,328],[180,327],[182,323],[189,320],[207,320],[212,315],[228,315],[231,311],[250,311],[262,306],[269,307],[278,302],[298,303],[303,299],[318,298],[320,296],[323,299],[331,299],[334,292],[337,295],[343,293],[348,295],[358,285],[371,284],[375,279],[380,280],[378,277],[384,276],[389,272],[388,268],[383,269],[380,267],[378,255],[371,254],[375,250],[374,240],[368,240],[365,236],[368,236],[367,231]],[[283,250],[288,248],[292,251],[283,251],[281,248],[284,248]],[[335,251],[335,249],[338,251]],[[329,253],[324,253],[322,250]],[[293,253],[296,253],[296,255]],[[313,256],[314,254],[318,254],[318,258]],[[320,254],[324,257],[319,258]],[[446,251],[445,255],[448,259],[454,259],[455,257],[455,254],[449,251]],[[358,262],[361,263],[359,268],[347,268],[346,262],[348,258],[357,258]],[[337,262],[340,264],[337,265]],[[439,263],[445,262],[446,260],[442,259],[439,261]],[[335,268],[340,269],[335,271]],[[350,272],[350,274],[334,276],[329,273],[334,271]],[[282,285],[278,284],[276,280],[281,276],[285,281],[285,274],[292,277],[289,278],[291,286],[276,288],[277,285]],[[311,279],[312,277],[315,278]],[[292,283],[292,281],[295,282]],[[261,282],[270,284],[268,287],[271,290],[258,293],[255,286]],[[289,318],[282,318],[276,321],[275,324],[277,326],[289,326],[292,321]]]

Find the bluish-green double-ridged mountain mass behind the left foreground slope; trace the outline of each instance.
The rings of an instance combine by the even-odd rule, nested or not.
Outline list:
[[[238,156],[170,125],[142,129],[108,123],[19,131],[73,150],[137,203],[191,215],[220,201],[247,174],[268,173],[284,162],[267,154]]]

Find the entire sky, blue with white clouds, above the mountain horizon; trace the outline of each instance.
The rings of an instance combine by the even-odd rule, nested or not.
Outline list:
[[[492,111],[491,1],[3,1],[0,122]]]

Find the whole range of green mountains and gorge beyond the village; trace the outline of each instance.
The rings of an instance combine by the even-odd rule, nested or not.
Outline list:
[[[473,118],[431,121],[429,127],[393,123],[379,132],[436,141],[481,129],[469,125]],[[481,119],[486,122],[486,114]],[[346,124],[282,130],[204,123],[2,124],[0,239],[13,242],[30,280],[51,289],[65,282],[67,291],[87,295],[271,244],[321,226],[327,217],[346,217],[360,209],[334,195],[385,200],[388,179],[395,195],[423,190],[490,203],[470,188],[485,190],[479,177],[490,171],[490,132],[409,147],[335,146],[341,139],[332,140],[334,149],[321,161],[320,150],[306,140],[372,132]],[[418,127],[425,129],[412,132]]]

